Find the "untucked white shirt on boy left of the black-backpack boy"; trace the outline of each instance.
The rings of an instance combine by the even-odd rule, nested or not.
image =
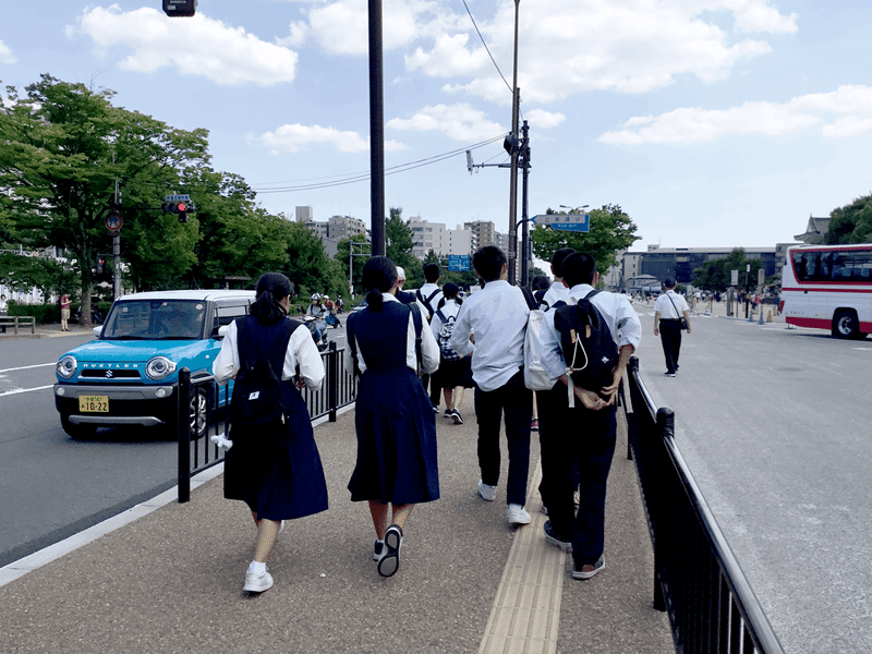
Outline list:
[[[472,352],[472,378],[482,390],[505,386],[523,366],[529,315],[521,289],[505,280],[488,281],[463,301],[450,347],[461,356]]]

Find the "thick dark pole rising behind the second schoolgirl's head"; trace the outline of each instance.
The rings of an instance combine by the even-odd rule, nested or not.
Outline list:
[[[370,0],[370,220],[373,255],[385,255],[385,89],[382,0]]]

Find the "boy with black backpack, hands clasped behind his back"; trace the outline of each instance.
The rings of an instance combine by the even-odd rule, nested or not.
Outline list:
[[[571,254],[562,262],[564,281],[569,299],[582,300],[600,279],[596,262],[583,253]],[[618,348],[618,363],[611,379],[601,389],[574,387],[576,407],[570,408],[566,375],[567,360],[555,329],[555,311],[545,314],[540,332],[542,363],[559,383],[552,389],[553,460],[550,497],[545,538],[564,549],[572,548],[572,579],[590,579],[605,567],[606,480],[611,468],[617,439],[616,396],[630,356],[642,340],[639,316],[625,295],[598,292],[590,302],[603,316]],[[580,504],[573,505],[572,469],[580,475]]]

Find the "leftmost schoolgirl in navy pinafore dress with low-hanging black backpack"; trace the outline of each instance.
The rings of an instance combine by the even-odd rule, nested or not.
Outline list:
[[[221,384],[235,377],[246,361],[264,356],[271,356],[277,374],[281,371],[284,424],[231,425],[232,446],[225,459],[225,497],[247,504],[257,526],[254,560],[242,589],[262,593],[272,586],[266,558],[283,521],[326,510],[327,484],[308,409],[299,390],[320,387],[320,353],[308,327],[287,317],[291,282],[284,275],[263,275],[255,292],[251,315],[228,327],[213,374]]]

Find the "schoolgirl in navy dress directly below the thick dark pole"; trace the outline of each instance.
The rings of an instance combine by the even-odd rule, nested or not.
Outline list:
[[[358,461],[348,484],[352,501],[368,501],[378,573],[400,567],[402,528],[414,505],[439,498],[433,404],[417,377],[412,305],[397,301],[397,267],[375,256],[363,267],[367,307],[349,316],[349,346],[361,373],[355,403]],[[425,373],[439,365],[439,347],[421,322]]]

